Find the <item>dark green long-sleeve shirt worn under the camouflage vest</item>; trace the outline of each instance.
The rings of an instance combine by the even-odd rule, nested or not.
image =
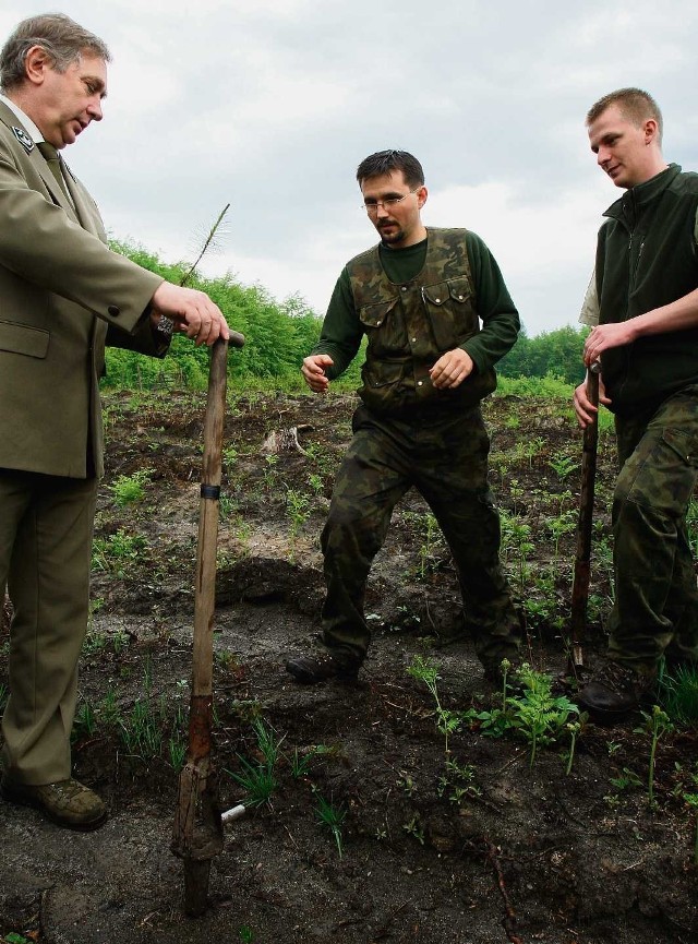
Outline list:
[[[476,307],[482,331],[468,338],[461,347],[479,372],[494,365],[514,346],[519,332],[519,315],[504,284],[496,260],[474,232],[466,234],[466,247],[473,279]],[[407,249],[381,246],[381,263],[390,282],[406,283],[416,278],[426,259],[426,239]],[[357,356],[363,328],[353,304],[348,270],[337,279],[323,322],[320,340],[311,354],[327,354],[334,363],[326,373],[335,380]]]

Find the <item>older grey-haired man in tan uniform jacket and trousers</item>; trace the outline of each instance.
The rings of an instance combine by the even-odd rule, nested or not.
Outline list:
[[[23,21],[0,52],[0,588],[14,605],[0,789],[75,828],[106,815],[70,756],[105,344],[164,356],[172,328],[196,344],[229,336],[206,295],[108,249],[59,156],[101,120],[109,58],[60,14]]]

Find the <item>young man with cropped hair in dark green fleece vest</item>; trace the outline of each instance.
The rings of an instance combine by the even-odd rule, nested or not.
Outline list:
[[[594,325],[585,362],[601,360],[621,473],[609,659],[579,703],[612,724],[650,692],[662,656],[670,666],[698,657],[686,528],[698,474],[698,175],[666,163],[661,112],[639,88],[605,95],[587,127],[599,166],[626,191],[604,214],[582,309]],[[575,409],[580,426],[593,420],[583,384]]]

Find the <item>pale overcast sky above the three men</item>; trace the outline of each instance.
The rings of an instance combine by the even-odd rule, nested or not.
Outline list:
[[[110,235],[193,261],[230,203],[205,273],[321,314],[375,242],[354,180],[374,151],[420,158],[424,223],[484,238],[530,336],[577,324],[619,195],[589,151],[597,98],[647,88],[665,157],[698,169],[695,0],[0,0],[3,39],[56,9],[113,55],[105,120],[64,152]]]

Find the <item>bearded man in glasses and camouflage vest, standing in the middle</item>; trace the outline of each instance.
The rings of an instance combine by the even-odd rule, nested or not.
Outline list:
[[[342,271],[302,373],[311,390],[326,392],[365,334],[362,404],[322,534],[325,649],[286,668],[306,684],[356,679],[371,640],[369,571],[393,509],[414,486],[448,541],[467,624],[495,678],[502,659],[517,656],[520,626],[500,564],[480,401],[516,340],[518,313],[479,237],[422,224],[428,193],[417,158],[378,152],[359,165],[357,179],[381,242]]]

